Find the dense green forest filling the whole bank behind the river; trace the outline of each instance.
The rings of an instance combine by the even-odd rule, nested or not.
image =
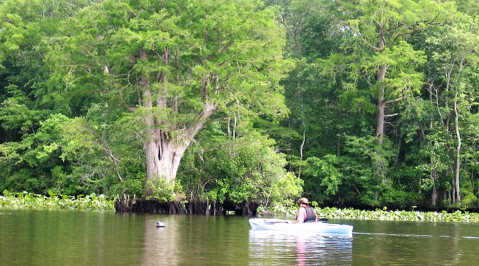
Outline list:
[[[0,0],[0,40],[0,192],[479,204],[477,0]]]

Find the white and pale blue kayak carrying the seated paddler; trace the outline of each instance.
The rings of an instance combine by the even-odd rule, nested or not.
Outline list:
[[[288,220],[262,218],[249,219],[249,224],[253,230],[309,232],[344,237],[353,236],[353,226],[348,224],[330,224],[327,222],[292,224]]]

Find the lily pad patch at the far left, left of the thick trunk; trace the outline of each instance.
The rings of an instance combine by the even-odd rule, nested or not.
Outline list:
[[[86,196],[51,195],[50,197],[28,192],[3,191],[0,208],[37,210],[102,210],[114,211],[114,201],[103,194]]]

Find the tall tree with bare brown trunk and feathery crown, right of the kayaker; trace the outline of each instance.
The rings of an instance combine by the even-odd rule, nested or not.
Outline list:
[[[386,119],[398,115],[394,105],[417,95],[422,85],[418,67],[425,57],[407,37],[448,19],[453,5],[429,0],[344,0],[331,6],[349,34],[341,57],[351,73],[344,81],[346,93],[361,89],[361,84],[369,89],[377,105],[375,135],[382,143]]]

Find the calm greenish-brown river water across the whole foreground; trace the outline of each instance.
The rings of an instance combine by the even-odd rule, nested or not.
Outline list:
[[[157,228],[156,221],[165,223]],[[477,265],[479,224],[330,221],[352,238],[250,230],[247,217],[0,209],[0,266]]]

